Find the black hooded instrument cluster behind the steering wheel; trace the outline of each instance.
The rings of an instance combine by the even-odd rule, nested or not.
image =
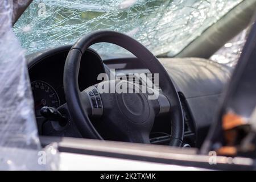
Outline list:
[[[34,59],[33,63],[30,62],[29,64],[28,70],[34,97],[36,118],[41,117],[40,109],[43,106],[57,108],[66,102],[63,88],[63,71],[68,50],[69,47],[53,52],[50,55],[47,53],[46,57],[42,57],[42,59],[38,57],[38,59]],[[101,61],[100,56],[92,49],[86,51],[82,57],[79,71],[79,86],[81,91],[99,82],[97,81],[98,74],[105,73],[105,68],[102,67]]]

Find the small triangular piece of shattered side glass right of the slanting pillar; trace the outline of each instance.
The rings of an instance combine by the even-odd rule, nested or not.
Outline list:
[[[246,28],[232,40],[227,42],[223,47],[218,49],[218,51],[210,57],[210,60],[216,61],[220,64],[225,64],[229,67],[234,67],[237,64],[243,46],[246,42],[248,30],[249,28]]]

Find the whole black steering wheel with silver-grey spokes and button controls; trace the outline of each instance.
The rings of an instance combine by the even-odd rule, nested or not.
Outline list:
[[[113,43],[137,56],[151,73],[159,73],[162,92],[155,100],[149,100],[147,93],[102,93],[99,84],[79,89],[80,61],[87,48],[95,43]],[[103,64],[103,63],[102,63]],[[184,135],[183,111],[175,86],[166,69],[158,59],[137,40],[115,31],[94,31],[82,36],[70,49],[64,67],[64,92],[72,120],[82,137],[103,139],[91,117],[101,117],[101,125],[118,140],[135,143],[150,143],[150,131],[155,116],[168,113],[171,116],[171,146],[181,146]],[[103,83],[103,82],[102,82]],[[102,84],[100,83],[100,84]],[[109,80],[105,84],[123,84],[122,80]],[[138,84],[126,82],[130,91],[141,90]],[[102,86],[102,85],[101,85]],[[104,88],[104,86],[102,86]]]

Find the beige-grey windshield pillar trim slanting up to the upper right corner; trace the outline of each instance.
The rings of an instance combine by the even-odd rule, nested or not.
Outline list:
[[[188,44],[175,57],[209,59],[226,42],[249,26],[256,7],[255,0],[245,0]]]

